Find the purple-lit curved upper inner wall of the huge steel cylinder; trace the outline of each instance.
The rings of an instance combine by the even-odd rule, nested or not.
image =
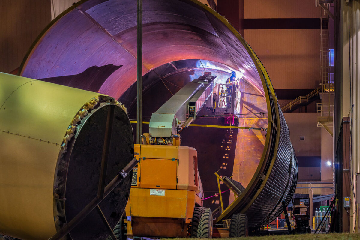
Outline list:
[[[143,74],[168,62],[204,59],[241,69],[246,80],[264,91],[239,39],[192,1],[144,0],[143,24]],[[77,82],[53,82],[81,84],[85,90],[119,98],[136,81],[136,2],[132,0],[89,0],[72,9],[41,37],[21,75],[51,81],[109,64],[122,67],[102,78],[95,77],[94,70]]]

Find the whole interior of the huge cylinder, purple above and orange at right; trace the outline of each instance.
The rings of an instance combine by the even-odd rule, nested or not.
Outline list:
[[[113,96],[128,108],[130,119],[136,119],[136,5],[131,3],[89,0],[61,15],[30,51],[21,76]],[[235,71],[242,95],[241,115],[233,123],[267,128],[263,83],[237,34],[198,3],[144,1],[144,121],[205,70],[223,84]],[[212,114],[203,108],[201,115]],[[230,118],[201,117],[194,123],[230,124]],[[143,125],[143,132],[148,132],[147,127]],[[136,132],[136,124],[133,128]],[[265,134],[264,130],[203,127],[181,132],[182,144],[198,149],[205,198],[218,192],[213,175],[218,170],[219,175],[248,185],[264,151]],[[244,167],[247,171],[240,170]],[[229,201],[233,197],[227,192],[225,206]],[[219,199],[204,200],[204,205],[215,209]]]

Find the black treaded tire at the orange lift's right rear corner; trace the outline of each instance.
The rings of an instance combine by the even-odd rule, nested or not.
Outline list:
[[[195,208],[191,237],[212,238],[212,212],[210,208]]]

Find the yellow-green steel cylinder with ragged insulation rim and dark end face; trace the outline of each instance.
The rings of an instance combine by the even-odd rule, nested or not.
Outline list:
[[[96,92],[0,73],[0,234],[49,239],[97,194],[108,109],[114,108],[106,184],[134,157],[126,109]],[[114,227],[127,176],[100,204]],[[96,210],[69,239],[105,239]]]

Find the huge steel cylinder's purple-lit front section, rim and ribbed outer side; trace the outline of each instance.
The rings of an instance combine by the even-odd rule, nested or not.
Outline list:
[[[249,122],[266,128],[267,133],[254,133],[257,145],[250,142],[247,148],[254,154],[247,152],[249,162],[239,168],[251,173],[242,175],[247,178],[246,191],[222,218],[247,213],[251,227],[273,221],[282,211],[282,201],[288,204],[292,198],[298,168],[264,66],[224,17],[196,0],[143,0],[143,24],[143,74],[156,76],[152,71],[166,64],[176,72],[175,62],[185,61],[189,67],[199,59],[211,61],[215,70],[226,66],[241,73],[242,81],[253,90],[248,94],[253,101],[248,105],[250,112],[267,110],[265,118]],[[194,71],[183,69],[181,74],[199,74],[201,65],[194,66]],[[21,75],[124,98],[136,82],[136,2],[88,0],[73,5],[34,42]]]

